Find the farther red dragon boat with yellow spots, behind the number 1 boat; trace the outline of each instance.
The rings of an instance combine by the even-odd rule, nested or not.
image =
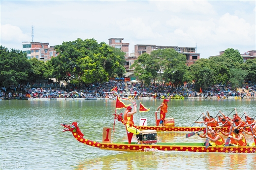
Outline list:
[[[115,119],[117,119],[118,121],[120,121],[121,123],[124,123],[124,119],[123,119],[123,113],[120,114],[114,114],[115,115]],[[160,119],[156,118],[156,124],[159,124]],[[200,130],[204,130],[205,127],[186,127],[186,126],[136,126],[133,125],[133,127],[135,127],[136,129],[139,130],[156,130],[156,131],[167,131],[167,132],[197,132]],[[220,128],[215,128],[212,127],[212,129],[218,130]],[[246,127],[245,130],[250,131],[250,127]],[[228,127],[223,127],[222,128],[223,132],[229,132]],[[241,132],[243,132],[241,130]]]

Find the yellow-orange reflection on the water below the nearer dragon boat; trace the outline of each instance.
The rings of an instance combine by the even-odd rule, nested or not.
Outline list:
[[[170,169],[255,169],[254,154],[188,153],[159,151],[145,153],[118,153],[86,159],[76,170],[170,170]]]

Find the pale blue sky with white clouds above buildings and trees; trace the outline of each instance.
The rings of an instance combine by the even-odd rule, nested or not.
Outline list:
[[[0,0],[0,45],[77,38],[196,47],[200,58],[256,50],[255,0]]]

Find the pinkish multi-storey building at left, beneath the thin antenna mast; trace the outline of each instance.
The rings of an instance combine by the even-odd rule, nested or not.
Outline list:
[[[45,61],[57,56],[55,46],[49,48],[48,45],[49,43],[42,42],[22,42],[22,51],[27,53],[28,59],[37,58]]]

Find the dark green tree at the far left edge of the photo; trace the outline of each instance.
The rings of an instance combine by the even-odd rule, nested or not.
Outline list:
[[[19,85],[27,82],[31,63],[22,51],[0,46],[0,86]]]

